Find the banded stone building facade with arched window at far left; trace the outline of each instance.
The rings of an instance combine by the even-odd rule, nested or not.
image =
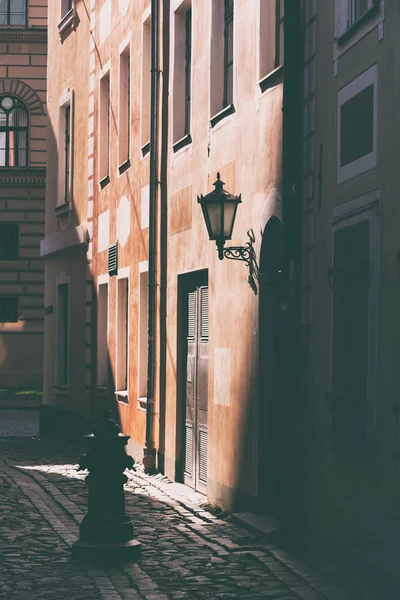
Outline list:
[[[47,1],[0,7],[0,387],[41,388]]]

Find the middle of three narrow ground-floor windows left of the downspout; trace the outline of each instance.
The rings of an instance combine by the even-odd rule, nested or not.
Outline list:
[[[117,390],[120,400],[128,394],[128,278],[118,279],[117,285]],[[124,394],[121,394],[124,392]]]

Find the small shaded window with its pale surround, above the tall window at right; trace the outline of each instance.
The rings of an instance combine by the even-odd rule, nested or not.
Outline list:
[[[378,67],[338,92],[338,183],[376,167]]]

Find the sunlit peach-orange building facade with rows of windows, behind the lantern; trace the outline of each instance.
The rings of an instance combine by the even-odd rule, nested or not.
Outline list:
[[[300,78],[283,93],[284,60],[299,73],[296,7],[286,21],[284,2],[258,0],[49,9],[43,423],[108,403],[147,468],[275,515],[290,452],[281,460],[285,444],[265,428],[283,418],[280,290],[291,307],[299,272],[285,240],[299,228]],[[217,173],[242,195],[232,244],[254,249],[252,285],[207,238],[197,196]]]

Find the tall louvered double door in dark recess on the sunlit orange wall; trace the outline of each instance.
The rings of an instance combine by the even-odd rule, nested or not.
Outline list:
[[[179,278],[178,406],[181,480],[207,491],[208,274]]]

